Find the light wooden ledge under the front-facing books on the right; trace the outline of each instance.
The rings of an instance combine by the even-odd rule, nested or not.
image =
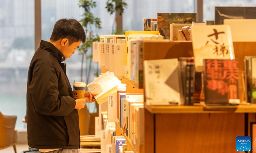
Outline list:
[[[149,106],[150,113],[256,113],[256,105],[238,106]]]

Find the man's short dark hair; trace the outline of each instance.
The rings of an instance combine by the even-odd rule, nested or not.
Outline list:
[[[57,41],[67,38],[69,45],[79,40],[85,42],[85,32],[83,26],[73,18],[62,18],[58,20],[53,28],[50,40]]]

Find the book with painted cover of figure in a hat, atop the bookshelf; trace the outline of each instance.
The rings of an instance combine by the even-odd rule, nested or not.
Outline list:
[[[170,24],[191,24],[196,22],[196,13],[157,13],[157,30],[170,40]]]

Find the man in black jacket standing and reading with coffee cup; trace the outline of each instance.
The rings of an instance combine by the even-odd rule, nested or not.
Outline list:
[[[60,19],[49,41],[41,40],[29,69],[27,84],[28,146],[40,152],[71,153],[80,148],[78,109],[95,101],[93,94],[74,99],[62,63],[85,42],[82,25],[75,19]]]

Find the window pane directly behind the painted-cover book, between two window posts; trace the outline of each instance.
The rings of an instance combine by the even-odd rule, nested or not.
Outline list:
[[[126,0],[123,29],[143,31],[143,18],[157,18],[157,13],[195,13],[194,0]]]

